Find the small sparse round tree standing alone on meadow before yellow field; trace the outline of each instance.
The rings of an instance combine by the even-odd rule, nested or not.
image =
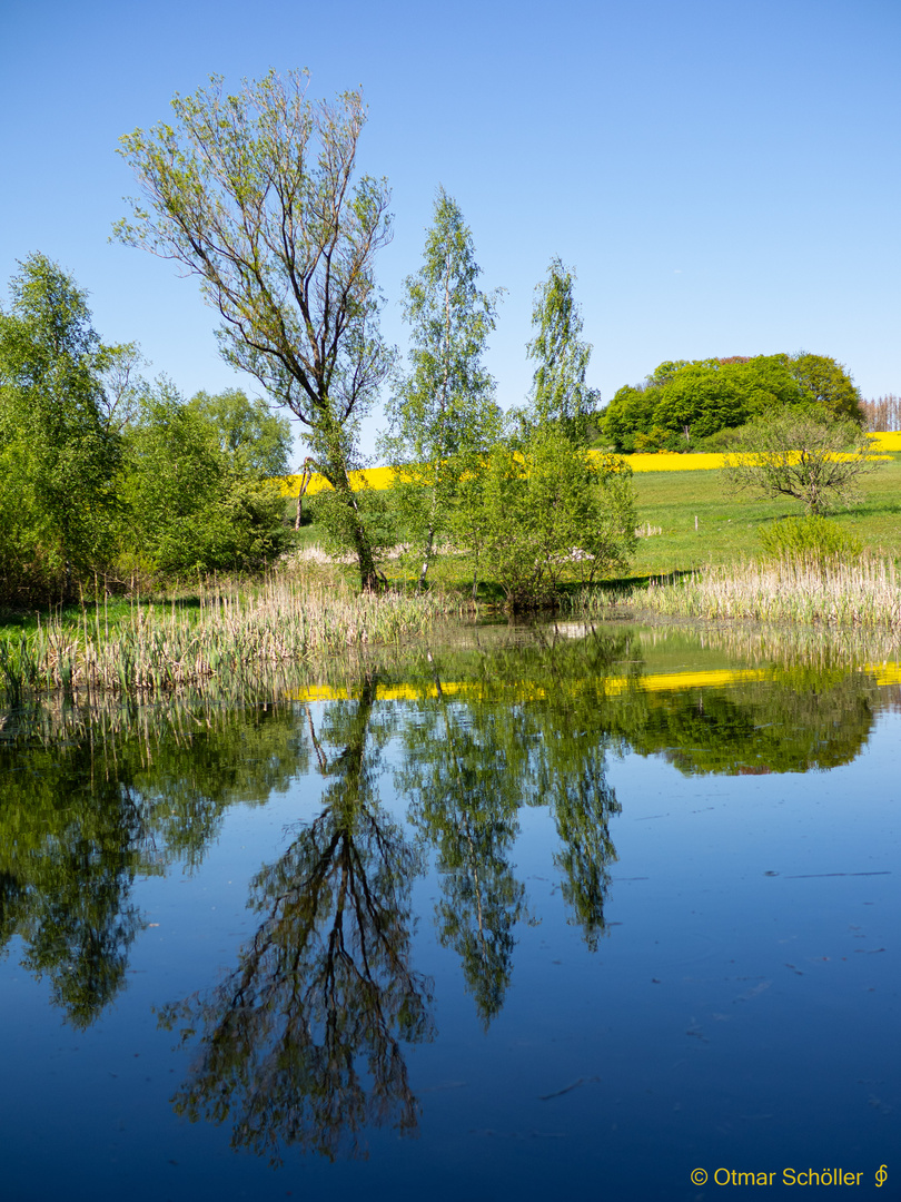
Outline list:
[[[858,484],[883,465],[860,426],[807,406],[751,422],[727,456],[729,489],[801,501],[823,514],[859,496]]]

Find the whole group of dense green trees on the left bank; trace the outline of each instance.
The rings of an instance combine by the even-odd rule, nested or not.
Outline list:
[[[0,600],[255,569],[284,545],[290,428],[243,392],[179,395],[105,345],[85,293],[31,255],[0,310]]]

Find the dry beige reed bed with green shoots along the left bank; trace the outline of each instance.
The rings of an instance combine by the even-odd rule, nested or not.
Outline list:
[[[261,668],[417,638],[459,615],[450,597],[353,595],[278,577],[252,590],[203,589],[190,607],[136,603],[114,629],[100,605],[83,611],[77,633],[50,619],[0,643],[0,691],[16,706],[59,689],[129,695],[229,684]]]

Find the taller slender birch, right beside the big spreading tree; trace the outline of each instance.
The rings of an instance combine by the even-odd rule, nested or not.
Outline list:
[[[481,270],[460,207],[442,188],[423,266],[406,280],[410,370],[388,403],[386,439],[407,538],[420,563],[420,588],[460,488],[473,486],[501,428],[482,355],[502,290],[479,291]]]

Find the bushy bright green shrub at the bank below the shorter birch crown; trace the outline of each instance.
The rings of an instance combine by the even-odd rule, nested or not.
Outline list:
[[[560,428],[533,434],[521,454],[494,448],[473,540],[511,606],[549,601],[563,577],[586,583],[626,565],[636,545],[631,477],[621,460],[592,460]]]

